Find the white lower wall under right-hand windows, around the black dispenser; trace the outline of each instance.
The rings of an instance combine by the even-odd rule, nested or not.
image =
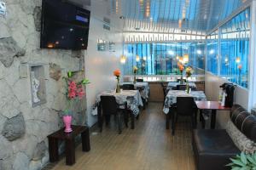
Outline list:
[[[221,77],[217,77],[212,75],[209,72],[206,72],[206,95],[207,100],[218,100],[218,92],[219,86],[223,84],[225,81]],[[235,89],[235,99],[234,102],[243,106],[245,109],[248,109],[248,91],[245,88],[236,87]],[[229,120],[229,111],[219,111],[217,115],[217,127],[218,128],[225,128],[226,122]]]

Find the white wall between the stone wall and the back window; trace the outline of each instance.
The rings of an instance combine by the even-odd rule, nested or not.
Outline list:
[[[104,1],[91,2],[90,33],[87,54],[85,54],[85,77],[90,79],[86,88],[88,125],[96,122],[96,116],[91,115],[92,106],[95,104],[96,95],[104,90],[113,89],[116,85],[113,71],[120,68],[119,57],[122,54],[122,20],[109,14],[109,6]],[[111,30],[103,29],[103,17],[111,19]],[[97,40],[118,42],[116,52],[97,51]]]

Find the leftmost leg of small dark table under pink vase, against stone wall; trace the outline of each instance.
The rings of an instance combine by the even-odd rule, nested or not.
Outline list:
[[[59,161],[59,153],[58,153],[58,139],[48,138],[49,141],[49,161]]]

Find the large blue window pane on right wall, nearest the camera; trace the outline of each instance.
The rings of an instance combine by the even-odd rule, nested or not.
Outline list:
[[[220,27],[220,76],[244,88],[247,88],[248,80],[249,16],[247,8]]]

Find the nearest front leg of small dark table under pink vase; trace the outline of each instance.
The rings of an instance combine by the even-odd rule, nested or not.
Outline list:
[[[66,154],[66,165],[73,165],[75,163],[75,142],[74,139],[65,140],[65,154]]]

